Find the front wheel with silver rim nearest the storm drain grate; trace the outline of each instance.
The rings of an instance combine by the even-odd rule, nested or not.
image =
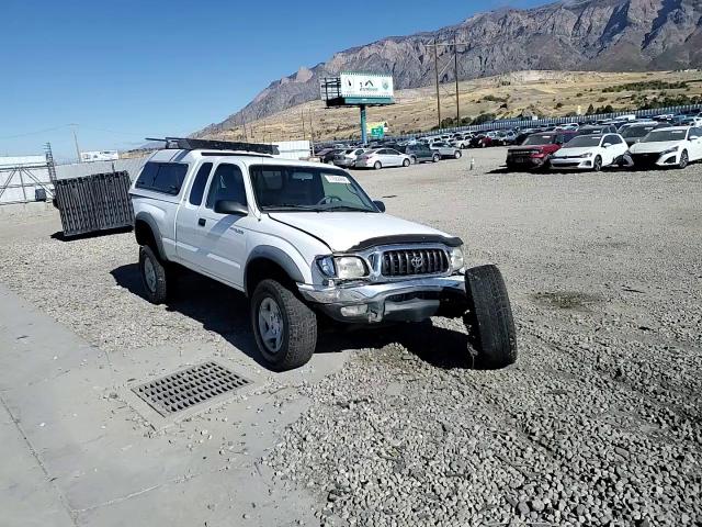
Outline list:
[[[275,313],[275,309],[278,341],[261,333],[270,319],[267,312]],[[262,280],[253,291],[250,311],[256,344],[270,369],[286,371],[309,362],[317,347],[317,315],[291,290],[275,280]]]

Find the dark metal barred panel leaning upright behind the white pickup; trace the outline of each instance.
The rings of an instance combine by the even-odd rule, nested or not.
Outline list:
[[[134,209],[125,171],[94,173],[55,182],[55,204],[61,215],[64,236],[131,227]]]

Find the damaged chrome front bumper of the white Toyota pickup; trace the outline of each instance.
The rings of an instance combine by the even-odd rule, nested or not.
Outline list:
[[[297,287],[315,307],[346,323],[421,322],[434,315],[458,316],[466,310],[463,274],[388,283]]]

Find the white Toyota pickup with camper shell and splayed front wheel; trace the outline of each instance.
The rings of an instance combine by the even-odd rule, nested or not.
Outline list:
[[[464,317],[483,366],[516,360],[502,278],[494,266],[466,271],[461,239],[385,214],[336,167],[280,159],[268,145],[162,141],[129,191],[150,302],[168,301],[179,267],[241,291],[279,371],[310,359],[320,317]]]

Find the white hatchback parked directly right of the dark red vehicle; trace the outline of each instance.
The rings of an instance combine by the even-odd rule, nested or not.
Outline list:
[[[619,134],[578,135],[551,157],[551,168],[595,170],[622,162],[629,146]]]

